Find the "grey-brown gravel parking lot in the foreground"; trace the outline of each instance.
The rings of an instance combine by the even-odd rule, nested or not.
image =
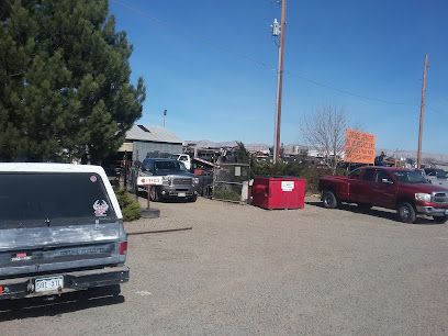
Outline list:
[[[1,335],[446,335],[448,226],[318,204],[157,203],[123,298],[2,303]]]

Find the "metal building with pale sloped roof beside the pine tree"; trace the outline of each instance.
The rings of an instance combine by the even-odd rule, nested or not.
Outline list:
[[[126,132],[126,139],[119,153],[126,153],[132,160],[142,161],[148,153],[182,153],[182,141],[167,128],[134,125]]]

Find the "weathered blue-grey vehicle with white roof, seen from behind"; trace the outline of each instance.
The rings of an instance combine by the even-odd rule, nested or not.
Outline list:
[[[127,236],[98,166],[0,164],[0,299],[117,295]]]

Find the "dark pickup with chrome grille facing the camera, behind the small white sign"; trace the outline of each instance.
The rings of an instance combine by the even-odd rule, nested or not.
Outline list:
[[[199,178],[188,171],[181,161],[167,158],[145,158],[132,177],[132,188],[138,190],[138,186],[136,186],[137,178],[148,176],[163,177],[161,186],[150,188],[149,197],[152,201],[168,198],[186,199],[190,202],[197,201]]]

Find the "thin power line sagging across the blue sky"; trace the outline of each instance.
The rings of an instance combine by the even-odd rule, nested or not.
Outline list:
[[[126,3],[122,2],[122,1],[119,1],[119,0],[112,0],[112,2],[114,2],[114,3],[116,3],[116,4],[121,5],[121,7],[124,7],[124,8],[128,9],[128,10],[135,12],[135,13],[138,13],[142,16],[146,16],[146,18],[150,19],[152,21],[154,21],[154,22],[156,22],[158,24],[169,26],[169,27],[172,29],[172,24],[168,23],[167,21],[160,20],[160,19],[158,19],[158,18],[156,18],[154,15],[150,15],[146,11],[143,11],[141,9],[136,9],[136,8],[131,7],[131,5],[128,5],[128,4],[126,4]],[[254,64],[256,64],[256,65],[258,65],[260,67],[264,67],[264,68],[266,68],[266,69],[268,69],[270,71],[277,71],[275,66],[272,66],[272,65],[270,65],[268,63],[261,61],[261,60],[259,60],[259,59],[257,59],[257,58],[255,58],[253,56],[242,54],[242,53],[231,52],[231,51],[228,51],[227,47],[219,45],[219,44],[216,44],[214,42],[211,42],[209,40],[205,40],[203,37],[198,38],[198,36],[195,36],[195,35],[193,36],[193,35],[190,35],[190,34],[186,34],[184,32],[179,32],[178,30],[176,30],[176,31],[177,31],[177,33],[179,35],[182,35],[183,37],[187,37],[187,41],[192,40],[192,41],[202,43],[202,44],[209,46],[210,48],[212,48],[214,51],[225,52],[225,53],[227,53],[229,55],[233,55],[233,56],[239,57],[242,59],[246,59],[248,61],[251,61],[251,63],[254,63]],[[300,78],[302,80],[307,81],[309,83],[312,83],[312,85],[321,87],[321,88],[325,88],[325,89],[328,89],[328,90],[333,90],[335,92],[339,92],[341,94],[346,94],[346,96],[350,96],[350,97],[355,97],[355,98],[359,98],[359,99],[363,99],[363,100],[368,100],[368,101],[374,101],[374,102],[389,104],[389,105],[403,105],[403,107],[414,107],[414,108],[418,107],[418,103],[406,103],[406,102],[402,102],[402,101],[391,101],[391,100],[385,100],[385,99],[382,99],[382,98],[374,98],[374,97],[369,97],[369,96],[365,96],[365,94],[359,94],[359,93],[356,93],[356,92],[352,92],[352,91],[349,91],[349,90],[346,90],[346,89],[336,88],[336,87],[327,85],[325,82],[321,82],[321,81],[317,81],[317,80],[314,80],[314,79],[311,79],[311,78],[307,78],[307,77],[304,77],[302,75],[294,74],[294,72],[291,72],[291,71],[288,71],[288,70],[285,70],[283,74],[289,76],[289,77]]]

